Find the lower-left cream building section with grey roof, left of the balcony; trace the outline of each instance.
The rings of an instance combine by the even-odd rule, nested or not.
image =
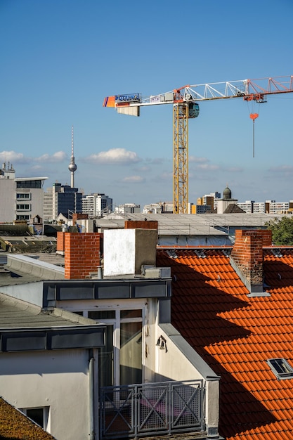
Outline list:
[[[0,302],[1,396],[56,439],[92,438],[93,360],[104,346],[105,325],[2,293]]]

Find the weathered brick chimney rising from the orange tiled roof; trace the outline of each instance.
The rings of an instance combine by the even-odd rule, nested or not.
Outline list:
[[[251,296],[268,295],[263,292],[263,246],[272,245],[268,230],[237,230],[230,263],[245,283]]]

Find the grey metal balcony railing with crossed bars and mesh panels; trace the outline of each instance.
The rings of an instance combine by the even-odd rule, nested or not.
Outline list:
[[[100,439],[204,432],[202,380],[100,388]]]

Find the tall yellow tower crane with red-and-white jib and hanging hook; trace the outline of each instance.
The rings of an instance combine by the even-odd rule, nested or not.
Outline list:
[[[188,85],[148,97],[143,97],[141,93],[108,96],[103,101],[103,107],[115,108],[124,115],[140,116],[143,106],[173,104],[173,212],[187,214],[188,119],[199,115],[197,102],[242,98],[244,101],[265,103],[267,95],[289,92],[293,92],[293,75]],[[253,124],[258,116],[258,113],[250,114]]]

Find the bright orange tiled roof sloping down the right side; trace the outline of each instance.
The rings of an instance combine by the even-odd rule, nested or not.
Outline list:
[[[263,250],[270,297],[247,297],[226,250],[158,250],[171,266],[171,322],[220,382],[219,432],[228,440],[293,439],[293,379],[266,362],[293,367],[293,250]],[[174,258],[176,257],[176,258]]]

